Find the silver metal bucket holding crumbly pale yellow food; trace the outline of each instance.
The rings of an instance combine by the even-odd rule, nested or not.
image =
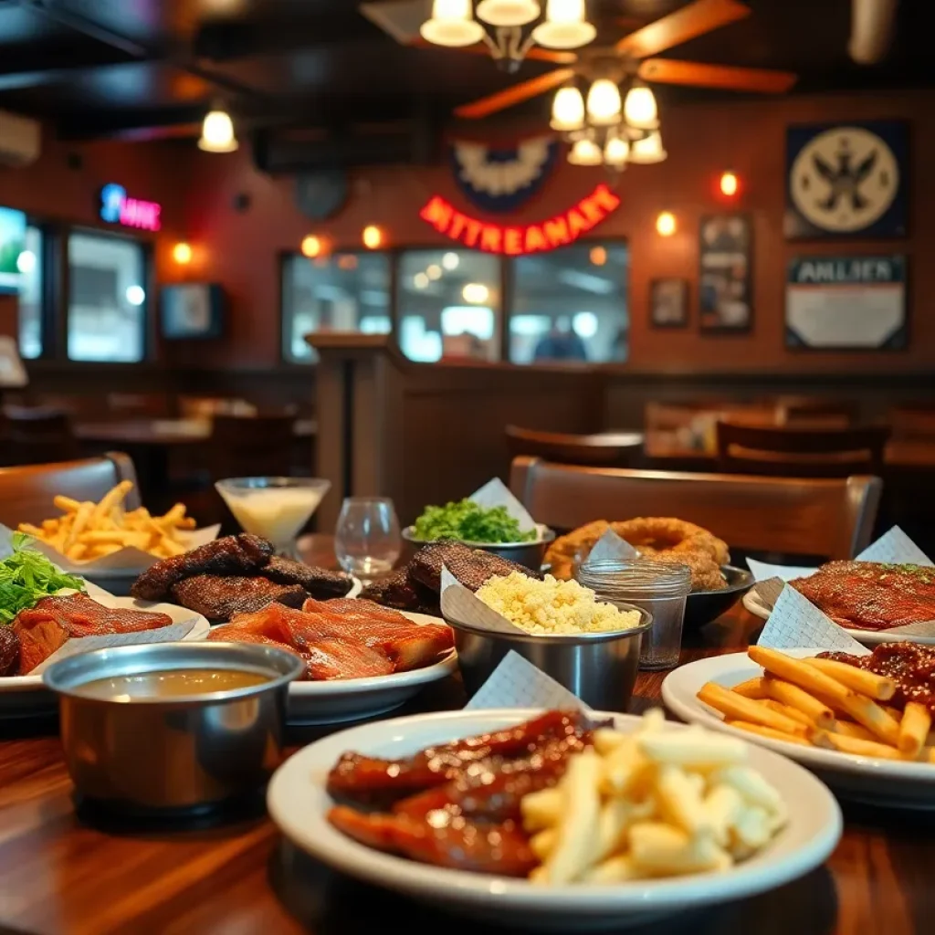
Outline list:
[[[514,650],[586,705],[598,711],[626,712],[640,668],[640,642],[653,626],[653,616],[630,604],[614,602],[614,606],[621,611],[639,611],[640,623],[612,633],[541,637],[495,633],[449,620],[468,695],[473,695]]]

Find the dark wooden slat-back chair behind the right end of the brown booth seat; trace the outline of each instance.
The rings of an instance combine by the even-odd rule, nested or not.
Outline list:
[[[879,474],[885,425],[862,428],[785,428],[717,424],[717,458],[722,471],[772,477],[850,477]]]

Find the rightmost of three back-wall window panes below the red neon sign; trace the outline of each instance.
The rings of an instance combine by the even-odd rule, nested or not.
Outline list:
[[[573,244],[513,264],[514,364],[626,360],[626,244]]]

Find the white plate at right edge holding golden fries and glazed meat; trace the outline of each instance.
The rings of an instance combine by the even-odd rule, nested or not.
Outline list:
[[[822,653],[824,650],[791,649],[784,652],[803,658]],[[760,674],[762,669],[745,653],[699,659],[698,662],[691,662],[669,672],[662,683],[662,699],[669,711],[677,714],[683,721],[723,730],[797,760],[821,776],[842,796],[876,805],[935,809],[933,764],[874,759],[870,756],[843,754],[835,750],[758,737],[736,727],[727,726],[721,714],[697,698],[698,691],[706,682],[716,682],[725,688],[731,688]]]

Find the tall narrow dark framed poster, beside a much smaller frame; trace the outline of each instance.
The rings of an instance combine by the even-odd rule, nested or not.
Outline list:
[[[698,304],[702,331],[744,332],[753,324],[753,223],[744,214],[701,219]]]

